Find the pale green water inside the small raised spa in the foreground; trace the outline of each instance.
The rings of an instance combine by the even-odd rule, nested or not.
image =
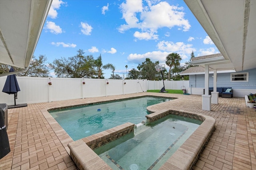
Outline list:
[[[113,170],[158,170],[199,127],[201,121],[168,115],[94,152]]]

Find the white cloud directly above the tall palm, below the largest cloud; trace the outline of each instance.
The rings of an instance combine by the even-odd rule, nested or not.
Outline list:
[[[171,41],[160,41],[157,44],[158,49],[171,53],[178,53],[182,59],[187,59],[188,55],[190,55],[192,51],[196,51],[192,46],[192,44],[185,44],[183,42],[174,43]]]

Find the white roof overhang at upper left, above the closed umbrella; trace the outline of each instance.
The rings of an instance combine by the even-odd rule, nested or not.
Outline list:
[[[52,0],[0,0],[0,63],[29,66],[51,4]]]

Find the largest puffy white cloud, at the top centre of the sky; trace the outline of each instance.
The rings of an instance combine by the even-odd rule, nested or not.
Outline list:
[[[138,28],[142,32],[149,32],[149,35],[154,35],[162,27],[171,29],[177,26],[183,31],[190,29],[188,20],[184,19],[185,13],[182,7],[170,6],[167,2],[152,5],[152,2],[156,3],[157,0],[146,2],[148,2],[148,6],[142,4],[142,0],[126,1],[126,3],[123,2],[120,5],[122,18],[126,21],[126,24],[120,25],[119,32],[123,33],[128,29]],[[140,16],[140,18],[137,18],[137,16]]]

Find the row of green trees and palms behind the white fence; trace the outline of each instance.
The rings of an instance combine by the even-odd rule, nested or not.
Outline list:
[[[194,57],[194,52],[191,53],[191,58]],[[68,57],[67,59],[61,57],[55,59],[52,63],[46,63],[47,58],[45,55],[39,55],[38,58],[32,57],[28,70],[23,73],[16,74],[17,76],[32,76],[32,77],[48,77],[50,70],[54,70],[56,77],[66,78],[104,78],[103,70],[110,69],[113,74],[110,79],[122,79],[118,74],[114,74],[115,66],[113,64],[102,63],[101,55],[96,59],[92,55],[84,55],[84,51],[79,49],[77,55]],[[162,71],[165,80],[188,80],[188,76],[180,76],[179,73],[186,70],[190,66],[193,66],[190,61],[186,62],[184,66],[180,65],[181,57],[177,53],[170,53],[166,56],[165,64],[170,67],[169,71],[165,69]],[[138,64],[137,69],[132,68],[128,71],[128,65],[126,68],[125,79],[147,79],[147,80],[162,80],[161,72],[156,71],[156,65],[159,61],[152,62],[149,58],[146,58],[144,62]],[[6,64],[0,64],[0,74],[9,72],[10,66]],[[16,71],[21,68],[14,67]],[[124,74],[123,74],[124,77]]]

